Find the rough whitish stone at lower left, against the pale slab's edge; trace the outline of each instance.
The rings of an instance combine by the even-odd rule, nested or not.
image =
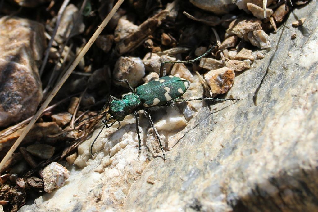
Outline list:
[[[54,188],[60,188],[70,177],[70,172],[57,162],[52,162],[43,170],[44,191],[51,193]]]

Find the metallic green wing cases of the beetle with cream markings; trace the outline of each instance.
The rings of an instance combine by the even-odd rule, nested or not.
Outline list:
[[[189,85],[186,79],[165,76],[138,86],[136,94],[144,107],[159,106],[181,97]]]

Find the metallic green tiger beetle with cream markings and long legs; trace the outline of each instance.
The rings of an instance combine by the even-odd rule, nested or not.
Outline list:
[[[158,106],[168,106],[175,102],[185,102],[185,101],[193,101],[193,100],[208,100],[208,101],[226,101],[226,100],[238,100],[238,99],[214,99],[214,98],[195,98],[195,99],[179,99],[189,88],[190,82],[181,77],[175,76],[165,76],[163,77],[163,66],[164,64],[175,64],[175,63],[193,63],[196,60],[199,60],[209,54],[213,48],[216,46],[212,45],[208,51],[206,51],[203,55],[186,61],[169,61],[163,62],[160,66],[159,78],[152,80],[148,83],[138,86],[135,90],[130,86],[127,79],[119,80],[122,83],[126,83],[132,92],[131,94],[127,94],[122,97],[122,99],[117,99],[114,96],[110,96],[108,102],[104,105],[102,113],[97,114],[95,116],[103,115],[101,118],[104,123],[102,129],[94,139],[90,152],[93,155],[92,148],[99,137],[100,133],[103,131],[105,127],[111,127],[116,121],[118,121],[120,125],[120,121],[122,121],[127,115],[134,114],[136,119],[136,131],[138,134],[138,150],[139,155],[141,154],[141,139],[139,132],[139,110],[144,110],[146,117],[149,120],[151,127],[153,128],[156,138],[159,142],[163,160],[166,159],[163,147],[161,144],[161,140],[159,137],[159,133],[152,121],[150,116],[150,110],[154,107]],[[89,117],[92,118],[92,117]],[[89,119],[88,118],[88,119]],[[86,119],[85,119],[86,120]],[[84,121],[84,120],[83,120]],[[108,126],[108,124],[110,124]]]

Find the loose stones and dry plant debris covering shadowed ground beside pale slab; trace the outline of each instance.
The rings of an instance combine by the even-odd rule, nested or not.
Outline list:
[[[0,19],[1,159],[114,5],[113,1],[102,2],[14,0],[4,1],[0,7],[5,15]],[[164,71],[193,82],[191,86],[203,84],[210,90],[207,95],[225,94],[235,86],[238,72],[248,71],[255,59],[266,56],[265,51],[252,52],[271,48],[268,34],[293,9],[289,2],[265,2],[264,7],[261,0],[235,4],[199,0],[125,2],[1,168],[0,206],[4,211],[17,211],[31,198],[30,193],[41,195],[63,186],[70,173],[58,162],[73,166],[79,160],[77,147],[98,127],[107,96],[120,98],[128,92],[127,85],[118,80],[127,79],[136,87],[158,78],[162,62],[196,58],[218,43],[200,62],[166,64]],[[304,22],[301,18],[292,25]],[[291,34],[291,39],[295,38],[296,32]],[[197,74],[203,82],[198,82]],[[185,105],[180,106],[183,114],[171,109],[175,126],[166,126],[162,119],[155,123],[158,130],[186,126],[202,106],[194,102]],[[151,133],[149,129],[147,134]],[[110,155],[125,145],[112,147]],[[159,148],[152,145],[147,141],[156,152]]]

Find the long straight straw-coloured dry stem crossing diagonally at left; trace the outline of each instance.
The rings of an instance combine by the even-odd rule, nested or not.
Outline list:
[[[75,69],[75,67],[79,64],[79,61],[84,57],[88,49],[93,45],[96,38],[100,35],[101,31],[105,28],[106,24],[109,22],[109,20],[114,16],[114,13],[118,10],[120,5],[123,3],[124,0],[118,0],[118,2],[115,4],[114,8],[110,11],[110,13],[107,15],[107,17],[104,19],[104,21],[100,24],[98,29],[93,34],[92,38],[89,39],[87,44],[84,46],[82,51],[79,52],[78,56],[70,66],[70,68],[66,71],[63,78],[59,83],[54,87],[52,92],[49,94],[48,98],[43,102],[42,106],[38,110],[38,112],[34,115],[33,119],[30,121],[30,123],[25,127],[24,131],[20,135],[20,137],[16,140],[16,142],[12,145],[8,153],[4,156],[3,160],[0,163],[0,169],[3,167],[3,165],[8,161],[12,153],[17,149],[19,144],[22,142],[26,134],[30,131],[31,127],[35,124],[35,122],[38,120],[38,118],[41,116],[45,108],[49,105],[55,94],[59,91],[59,89],[62,87],[62,85],[65,83],[66,79],[70,76],[72,71]]]

